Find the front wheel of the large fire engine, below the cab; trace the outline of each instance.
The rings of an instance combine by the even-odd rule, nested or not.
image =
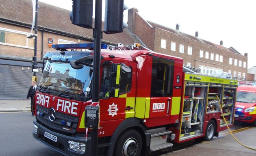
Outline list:
[[[126,130],[119,136],[114,154],[115,156],[139,156],[142,150],[142,139],[136,130]]]

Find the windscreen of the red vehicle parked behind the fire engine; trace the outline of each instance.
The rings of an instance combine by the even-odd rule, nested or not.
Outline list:
[[[236,102],[255,103],[256,93],[238,91],[236,94]]]

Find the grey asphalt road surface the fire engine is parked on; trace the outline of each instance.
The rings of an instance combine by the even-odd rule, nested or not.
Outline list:
[[[34,118],[30,112],[0,113],[1,156],[63,156],[33,138]],[[231,130],[248,126],[235,123]],[[221,133],[220,137],[227,134],[226,131]]]

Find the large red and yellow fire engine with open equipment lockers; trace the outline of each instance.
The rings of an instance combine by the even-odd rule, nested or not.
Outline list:
[[[92,103],[93,43],[53,48],[34,98],[33,137],[65,155],[90,155],[85,107]],[[226,129],[223,117],[233,124],[237,80],[197,74],[182,58],[138,43],[102,44],[100,72],[99,155],[140,156],[209,141]]]

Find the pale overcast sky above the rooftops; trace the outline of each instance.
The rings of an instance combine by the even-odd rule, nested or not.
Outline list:
[[[72,10],[72,0],[39,1]],[[102,1],[105,9],[105,0]],[[199,38],[216,44],[222,40],[223,46],[232,46],[242,55],[248,53],[248,68],[256,65],[254,0],[124,0],[124,3],[137,8],[145,20],[173,29],[178,23],[181,32],[195,35],[198,31]],[[126,22],[127,13],[124,12]],[[102,14],[104,20],[104,10]]]

